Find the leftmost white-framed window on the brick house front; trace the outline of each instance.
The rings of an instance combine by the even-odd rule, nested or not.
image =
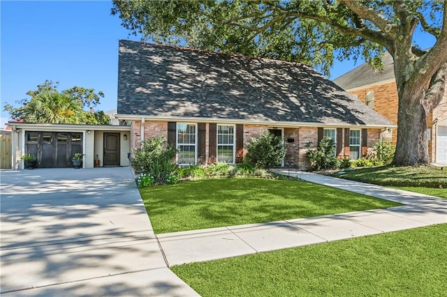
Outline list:
[[[196,124],[177,123],[177,162],[182,165],[196,163]]]

